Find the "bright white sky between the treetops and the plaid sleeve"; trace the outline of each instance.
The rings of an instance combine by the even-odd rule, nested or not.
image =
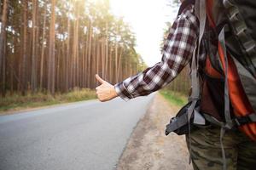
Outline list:
[[[137,53],[148,66],[161,59],[162,42],[166,21],[173,22],[177,8],[167,5],[166,0],[110,0],[111,10],[123,16],[137,37]]]

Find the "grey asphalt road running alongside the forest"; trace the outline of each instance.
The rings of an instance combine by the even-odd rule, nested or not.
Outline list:
[[[0,116],[0,170],[111,170],[153,95]]]

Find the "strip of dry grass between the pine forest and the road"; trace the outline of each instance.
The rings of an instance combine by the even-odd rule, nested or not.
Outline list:
[[[96,99],[95,90],[75,88],[67,94],[56,93],[55,97],[40,92],[36,94],[28,92],[25,96],[21,96],[20,94],[7,94],[6,97],[0,98],[0,114],[4,111],[19,111],[45,105],[56,105],[88,99]]]

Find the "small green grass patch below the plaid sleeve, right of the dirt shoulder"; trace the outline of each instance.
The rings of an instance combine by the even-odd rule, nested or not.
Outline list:
[[[169,91],[169,90],[160,90],[160,94],[164,96],[165,99],[170,101],[172,104],[177,106],[186,105],[188,102],[187,97],[184,94],[180,94],[177,92]]]

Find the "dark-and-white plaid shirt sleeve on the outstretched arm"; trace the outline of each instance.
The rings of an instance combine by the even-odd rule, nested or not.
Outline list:
[[[198,34],[199,22],[193,6],[189,5],[169,29],[161,61],[136,76],[115,84],[119,97],[127,101],[151,94],[172,82],[192,58]]]

